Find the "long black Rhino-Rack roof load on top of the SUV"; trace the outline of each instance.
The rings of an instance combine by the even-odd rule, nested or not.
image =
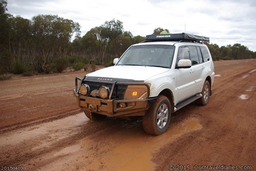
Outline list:
[[[179,34],[157,34],[157,35],[147,35],[145,40],[149,41],[207,41],[209,42],[209,37],[198,36],[195,34],[179,33]]]

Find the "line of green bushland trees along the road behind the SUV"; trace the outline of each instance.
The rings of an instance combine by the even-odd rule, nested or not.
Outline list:
[[[6,13],[6,6],[6,0],[0,0],[0,74],[61,72],[67,66],[79,70],[84,64],[109,66],[129,46],[144,40],[124,31],[119,20],[106,21],[81,37],[81,26],[72,20],[41,14],[28,20]],[[161,31],[156,28],[153,34]],[[256,58],[256,52],[240,44],[207,46],[214,60]]]

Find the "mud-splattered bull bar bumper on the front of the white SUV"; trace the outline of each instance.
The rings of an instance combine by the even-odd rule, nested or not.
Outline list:
[[[149,108],[152,100],[154,100],[154,98],[148,99],[148,97],[146,99],[111,99],[111,94],[108,99],[83,96],[79,94],[78,80],[80,80],[81,85],[83,79],[76,77],[76,88],[73,93],[76,98],[76,104],[84,111],[90,111],[111,117],[143,116],[145,115],[145,111]],[[145,83],[113,83],[113,87],[116,84],[141,85]],[[113,87],[111,92],[113,91]]]

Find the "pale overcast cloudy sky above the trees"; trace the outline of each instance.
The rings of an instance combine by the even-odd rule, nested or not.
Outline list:
[[[14,16],[57,14],[78,22],[81,36],[113,18],[134,36],[154,28],[210,37],[219,46],[241,43],[256,51],[256,0],[8,0]]]

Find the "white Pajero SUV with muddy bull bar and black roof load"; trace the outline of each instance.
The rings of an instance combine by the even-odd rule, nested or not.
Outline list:
[[[215,73],[203,41],[209,37],[148,35],[114,59],[115,66],[76,77],[76,103],[91,120],[142,116],[148,134],[162,134],[173,112],[209,102]]]

